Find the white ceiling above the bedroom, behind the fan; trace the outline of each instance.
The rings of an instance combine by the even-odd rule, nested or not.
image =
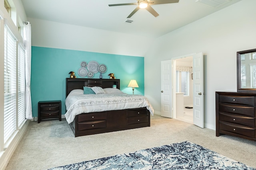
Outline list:
[[[132,23],[125,21],[127,20],[126,17],[136,8],[136,5],[110,7],[108,4],[136,3],[137,0],[22,0],[22,3],[28,18],[154,38],[240,0],[224,1],[228,2],[218,8],[207,6],[201,2],[196,2],[196,0],[156,4],[152,5],[152,8],[158,12],[158,17],[154,17],[146,9],[140,9],[129,18],[129,20],[134,20]]]

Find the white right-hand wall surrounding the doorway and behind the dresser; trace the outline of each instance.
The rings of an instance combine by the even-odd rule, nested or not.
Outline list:
[[[215,129],[215,92],[236,91],[236,52],[256,48],[255,7],[256,0],[242,0],[154,41],[144,63],[145,96],[156,111],[161,110],[161,61],[202,52],[207,55],[204,123]]]

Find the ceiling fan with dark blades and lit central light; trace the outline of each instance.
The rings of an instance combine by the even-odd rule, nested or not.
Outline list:
[[[110,4],[108,6],[122,6],[122,5],[138,5],[135,10],[127,17],[131,18],[133,14],[135,14],[140,8],[145,8],[150,12],[153,16],[157,17],[159,14],[151,7],[151,5],[157,4],[170,4],[170,3],[177,3],[179,0],[138,0],[137,3],[127,3],[127,4]]]

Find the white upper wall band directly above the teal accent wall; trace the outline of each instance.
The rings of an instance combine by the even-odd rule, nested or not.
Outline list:
[[[144,57],[153,39],[28,18],[32,46]]]

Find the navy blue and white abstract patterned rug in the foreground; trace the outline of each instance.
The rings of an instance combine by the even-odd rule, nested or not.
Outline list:
[[[50,170],[256,170],[189,141]]]

